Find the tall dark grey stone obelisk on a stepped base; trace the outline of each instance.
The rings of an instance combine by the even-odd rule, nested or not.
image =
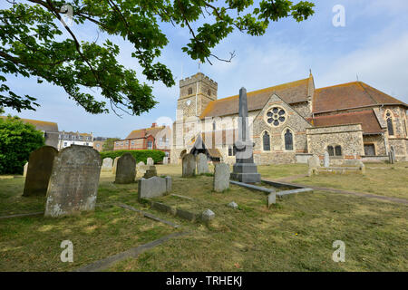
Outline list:
[[[249,137],[248,128],[248,102],[247,90],[239,90],[239,118],[238,140],[235,142],[237,149],[236,163],[233,166],[231,179],[241,182],[260,182],[260,174],[257,173],[257,165],[254,163],[254,143]]]

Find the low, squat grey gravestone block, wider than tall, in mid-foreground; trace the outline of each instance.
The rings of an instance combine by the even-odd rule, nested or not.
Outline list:
[[[165,179],[157,176],[154,176],[150,179],[139,179],[138,199],[140,200],[141,198],[158,198],[163,196],[166,192],[171,190],[168,189],[169,180],[171,184],[171,178],[169,176]]]

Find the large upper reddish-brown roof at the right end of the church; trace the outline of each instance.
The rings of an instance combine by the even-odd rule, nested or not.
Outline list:
[[[404,102],[374,89],[364,82],[347,82],[315,90],[313,112],[337,111],[356,107],[393,104],[408,107]]]

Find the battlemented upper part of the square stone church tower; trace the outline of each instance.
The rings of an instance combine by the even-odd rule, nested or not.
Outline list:
[[[217,100],[218,84],[203,73],[180,80],[180,97],[177,101],[177,120],[201,115],[209,102]]]

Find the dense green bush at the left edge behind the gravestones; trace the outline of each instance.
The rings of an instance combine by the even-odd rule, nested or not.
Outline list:
[[[44,146],[44,134],[18,117],[0,118],[0,174],[22,174],[30,153]]]

